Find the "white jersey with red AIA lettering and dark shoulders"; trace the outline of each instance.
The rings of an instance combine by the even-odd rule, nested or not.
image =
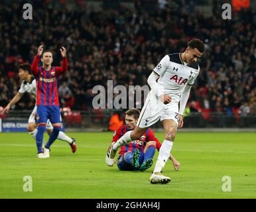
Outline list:
[[[154,72],[159,75],[157,81],[159,89],[165,95],[172,97],[172,102],[178,103],[186,84],[192,85],[198,76],[198,64],[186,64],[181,53],[168,54],[155,67]]]

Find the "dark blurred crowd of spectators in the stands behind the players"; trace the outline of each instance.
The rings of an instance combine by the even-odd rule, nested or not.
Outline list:
[[[17,93],[17,64],[32,62],[44,44],[60,65],[60,46],[68,50],[68,72],[58,81],[62,106],[91,110],[95,85],[147,85],[147,77],[165,54],[182,52],[190,38],[201,38],[206,51],[200,75],[191,91],[195,111],[209,109],[227,115],[256,113],[256,15],[255,9],[232,13],[223,20],[222,9],[204,15],[188,1],[152,1],[145,11],[120,7],[90,11],[86,5],[72,10],[34,1],[33,19],[22,20],[20,3],[0,2],[0,106]],[[189,1],[192,2],[192,1]],[[220,9],[219,13],[218,9]],[[29,95],[15,109],[30,109]],[[193,110],[192,110],[193,111]]]

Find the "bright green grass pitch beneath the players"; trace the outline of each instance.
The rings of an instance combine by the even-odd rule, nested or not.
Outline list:
[[[72,154],[56,140],[51,158],[36,158],[27,133],[0,133],[0,198],[255,198],[256,136],[251,132],[178,132],[164,174],[169,184],[150,184],[154,164],[145,172],[121,172],[105,164],[111,132],[67,132],[77,140]],[[156,136],[162,142],[163,133]],[[45,138],[48,136],[45,135]],[[24,176],[32,177],[32,192],[23,191]],[[231,191],[222,191],[223,176]]]

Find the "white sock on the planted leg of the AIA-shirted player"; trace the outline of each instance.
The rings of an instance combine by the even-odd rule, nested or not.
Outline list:
[[[162,146],[159,150],[159,157],[157,158],[157,163],[153,173],[162,171],[162,168],[164,168],[165,163],[170,157],[170,150],[172,150],[172,145],[173,142],[170,140],[164,140],[164,142],[162,142]]]

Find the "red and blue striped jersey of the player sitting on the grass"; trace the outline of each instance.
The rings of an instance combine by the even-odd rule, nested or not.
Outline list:
[[[126,125],[123,125],[115,131],[115,134],[113,135],[113,140],[112,142],[117,142],[125,132],[129,131],[126,127]],[[141,136],[139,140],[132,140],[129,142],[129,144],[125,144],[124,146],[121,147],[119,154],[125,154],[127,151],[133,152],[136,148],[139,150],[139,152],[143,152],[147,142],[149,141],[155,141],[157,143],[157,150],[160,149],[161,143],[159,140],[155,137],[154,132],[149,128],[147,131]]]

